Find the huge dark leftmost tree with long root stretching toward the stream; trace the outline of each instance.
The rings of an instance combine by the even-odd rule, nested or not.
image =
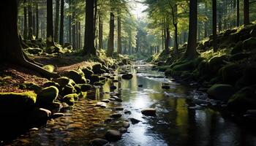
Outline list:
[[[47,77],[57,77],[57,74],[48,72],[47,70],[42,69],[42,67],[29,62],[28,57],[25,53],[23,53],[17,25],[18,1],[2,1],[1,6],[4,7],[5,10],[0,12],[0,19],[4,20],[4,23],[0,23],[0,61],[10,62],[12,64],[18,64],[29,69],[34,69],[35,71],[42,73]]]

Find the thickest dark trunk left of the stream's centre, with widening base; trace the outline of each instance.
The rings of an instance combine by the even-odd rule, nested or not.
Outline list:
[[[86,0],[86,28],[83,51],[86,55],[96,55],[94,46],[94,1]]]

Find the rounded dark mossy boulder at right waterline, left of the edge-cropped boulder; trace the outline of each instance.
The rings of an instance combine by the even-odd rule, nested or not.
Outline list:
[[[212,85],[211,88],[208,88],[207,93],[211,99],[228,101],[228,99],[235,93],[235,89],[232,85],[215,84]]]

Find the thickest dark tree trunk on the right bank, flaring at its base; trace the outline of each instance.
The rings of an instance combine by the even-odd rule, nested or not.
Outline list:
[[[197,55],[197,0],[189,0],[189,39],[184,58],[191,59]]]

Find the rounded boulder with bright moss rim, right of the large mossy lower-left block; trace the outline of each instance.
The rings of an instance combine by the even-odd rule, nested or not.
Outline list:
[[[53,101],[57,98],[58,95],[59,95],[59,89],[56,88],[55,86],[43,88],[42,91],[40,91],[37,94],[37,103],[38,104],[53,103]]]

